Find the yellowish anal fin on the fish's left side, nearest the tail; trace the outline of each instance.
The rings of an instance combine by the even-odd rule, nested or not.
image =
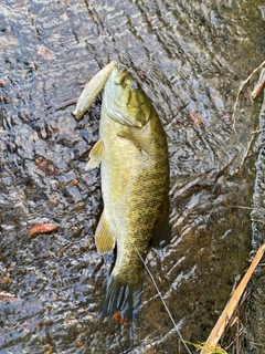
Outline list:
[[[97,252],[100,254],[112,252],[115,247],[115,237],[112,233],[104,211],[96,228],[95,242]]]

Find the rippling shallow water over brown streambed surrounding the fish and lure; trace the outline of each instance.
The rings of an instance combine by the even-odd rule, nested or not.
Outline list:
[[[263,13],[243,0],[2,1],[0,287],[14,298],[0,303],[1,353],[186,353],[148,274],[134,326],[99,316],[112,262],[96,253],[100,180],[85,165],[100,97],[82,121],[72,112],[110,60],[136,75],[168,136],[172,239],[147,266],[184,340],[206,340],[252,250],[251,212],[233,207],[253,200],[257,75],[236,135],[232,113],[264,60]],[[29,240],[39,222],[59,230]]]

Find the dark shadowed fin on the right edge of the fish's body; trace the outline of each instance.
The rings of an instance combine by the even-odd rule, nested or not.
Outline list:
[[[170,226],[169,226],[169,199],[165,201],[161,210],[161,217],[159,218],[157,226],[152,232],[150,246],[159,248],[168,244],[170,239]]]

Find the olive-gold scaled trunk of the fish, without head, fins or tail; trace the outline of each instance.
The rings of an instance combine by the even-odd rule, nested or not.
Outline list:
[[[119,137],[120,131],[123,126],[112,122],[103,112],[100,136],[105,157],[100,168],[104,212],[118,244],[113,274],[126,268],[127,263],[131,264],[131,258],[140,261],[132,242],[139,251],[148,249],[168,196],[167,140],[156,112],[139,133],[150,142],[149,154],[137,148],[131,140]],[[123,252],[119,252],[119,247]]]

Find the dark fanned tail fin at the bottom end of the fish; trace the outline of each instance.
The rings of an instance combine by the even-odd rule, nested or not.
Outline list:
[[[110,274],[103,299],[102,314],[112,316],[120,311],[123,316],[134,321],[140,306],[141,293],[142,277],[139,277],[137,282],[129,284]]]

